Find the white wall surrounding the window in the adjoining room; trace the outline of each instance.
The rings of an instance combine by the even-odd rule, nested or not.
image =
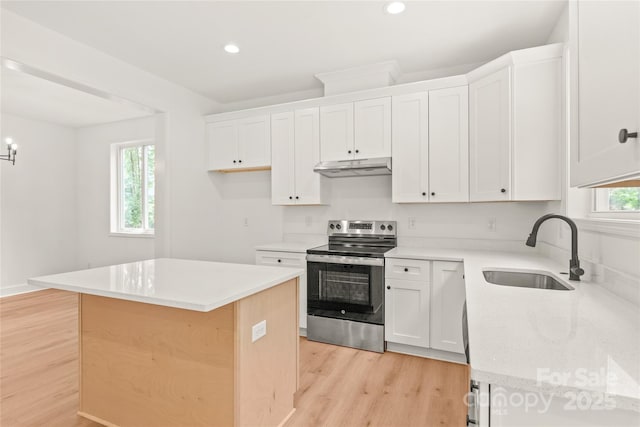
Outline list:
[[[154,239],[109,235],[111,144],[154,139],[155,118],[124,120],[76,131],[78,268],[154,257]]]

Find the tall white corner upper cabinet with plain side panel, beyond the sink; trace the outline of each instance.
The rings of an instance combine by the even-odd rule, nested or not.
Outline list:
[[[562,45],[510,52],[467,77],[470,200],[559,200]]]

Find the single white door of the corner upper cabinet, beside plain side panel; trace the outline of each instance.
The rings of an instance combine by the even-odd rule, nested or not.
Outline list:
[[[469,198],[472,202],[510,200],[510,94],[510,67],[469,85]]]

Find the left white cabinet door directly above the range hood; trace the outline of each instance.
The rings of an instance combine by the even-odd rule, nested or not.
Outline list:
[[[353,158],[353,103],[320,108],[320,158],[347,160]]]

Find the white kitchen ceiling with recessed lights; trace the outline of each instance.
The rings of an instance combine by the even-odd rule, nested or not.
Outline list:
[[[3,7],[222,103],[317,89],[316,73],[403,73],[544,44],[565,1],[3,1]],[[239,55],[222,50],[228,42]]]

